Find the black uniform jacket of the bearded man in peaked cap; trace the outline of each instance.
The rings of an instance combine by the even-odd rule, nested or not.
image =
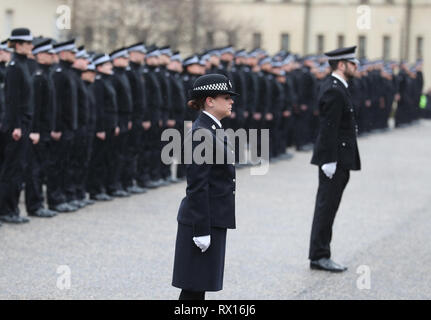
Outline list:
[[[341,168],[360,170],[352,99],[347,88],[333,76],[322,84],[319,111],[320,131],[311,163],[322,166],[337,162]]]

